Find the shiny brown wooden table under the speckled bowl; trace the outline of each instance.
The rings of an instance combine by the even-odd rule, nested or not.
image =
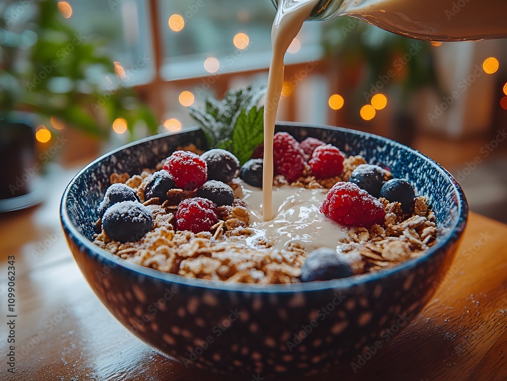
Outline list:
[[[159,355],[100,304],[59,223],[74,172],[56,171],[44,204],[0,216],[0,379],[223,379]],[[16,267],[14,375],[6,361],[8,256]],[[507,225],[472,213],[453,266],[421,314],[357,373],[347,364],[318,379],[505,380],[506,291]]]

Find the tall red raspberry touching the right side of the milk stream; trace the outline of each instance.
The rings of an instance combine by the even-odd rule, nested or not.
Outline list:
[[[289,183],[296,181],[305,169],[305,153],[299,143],[286,132],[276,133],[273,139],[275,175],[283,175]]]

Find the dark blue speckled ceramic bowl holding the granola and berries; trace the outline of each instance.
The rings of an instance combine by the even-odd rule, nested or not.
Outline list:
[[[357,131],[294,123],[279,124],[277,130],[300,141],[319,138],[387,165],[395,177],[414,184],[418,195],[429,197],[439,238],[418,259],[326,282],[262,286],[167,274],[93,245],[97,205],[111,173],[140,173],[179,145],[204,149],[203,134],[192,129],[156,136],[102,156],[63,194],[60,213],[70,250],[107,309],[141,340],[185,365],[251,379],[258,373],[276,378],[316,374],[357,361],[377,340],[384,342],[386,329],[405,326],[422,309],[436,291],[432,282],[454,257],[468,206],[440,165],[399,143]]]

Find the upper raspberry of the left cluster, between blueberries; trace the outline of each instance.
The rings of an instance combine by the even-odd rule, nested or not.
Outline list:
[[[189,151],[176,151],[169,156],[164,170],[174,179],[180,189],[192,191],[207,180],[206,161]]]

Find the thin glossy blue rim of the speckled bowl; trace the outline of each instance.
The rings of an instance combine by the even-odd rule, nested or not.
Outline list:
[[[312,124],[312,123],[302,123],[302,122],[276,122],[276,127],[283,128],[285,126],[296,126],[296,127],[307,127],[307,128],[318,128],[318,129],[324,129],[324,130],[331,130],[331,131],[341,131],[343,133],[349,133],[354,135],[363,136],[368,139],[376,139],[383,141],[385,143],[392,144],[394,146],[397,146],[399,148],[403,148],[405,150],[408,150],[412,152],[415,155],[418,155],[422,157],[424,160],[429,161],[430,164],[436,166],[436,169],[440,171],[445,177],[449,179],[451,182],[451,185],[454,187],[455,191],[458,195],[458,202],[457,206],[460,209],[458,213],[458,218],[456,223],[450,227],[450,234],[449,236],[441,241],[437,242],[435,245],[431,246],[430,248],[426,249],[424,252],[424,255],[418,258],[409,259],[404,261],[401,264],[398,264],[396,266],[370,272],[366,274],[360,274],[360,275],[354,275],[348,278],[341,278],[341,279],[333,279],[333,280],[327,280],[327,281],[315,281],[315,282],[306,282],[306,283],[291,283],[291,284],[257,284],[257,283],[240,283],[240,282],[225,282],[220,280],[207,280],[207,279],[200,279],[200,278],[189,278],[184,277],[182,275],[178,274],[172,274],[172,273],[166,273],[160,270],[151,269],[149,267],[144,267],[141,265],[137,265],[134,263],[131,263],[129,261],[125,261],[124,259],[121,259],[120,257],[114,255],[113,253],[100,248],[99,246],[93,244],[88,238],[86,238],[70,221],[70,218],[68,216],[67,206],[68,206],[68,193],[70,192],[70,188],[76,183],[77,179],[82,176],[85,172],[89,170],[89,168],[93,167],[98,162],[104,160],[106,157],[114,155],[124,149],[132,148],[137,145],[141,145],[144,143],[147,143],[149,141],[161,139],[167,136],[172,135],[178,135],[180,133],[187,133],[187,132],[193,132],[198,131],[200,128],[198,126],[193,126],[191,128],[185,129],[183,131],[179,132],[168,132],[163,134],[154,135],[148,138],[143,138],[140,140],[136,140],[132,143],[128,143],[126,145],[123,145],[115,150],[112,150],[110,152],[107,152],[97,159],[93,160],[89,164],[87,164],[84,168],[82,168],[81,171],[79,171],[73,179],[68,183],[68,185],[65,187],[65,191],[62,194],[62,198],[60,201],[60,221],[63,228],[63,231],[66,233],[66,236],[72,235],[74,236],[75,240],[78,242],[80,246],[85,246],[90,253],[94,253],[96,256],[100,256],[103,259],[115,263],[115,267],[119,266],[121,268],[124,268],[126,270],[132,271],[137,274],[137,276],[145,276],[148,278],[155,278],[159,281],[168,282],[168,283],[175,283],[182,286],[193,286],[196,288],[204,288],[214,291],[238,291],[238,292],[245,292],[245,293],[291,293],[291,292],[306,292],[306,291],[316,291],[316,290],[330,290],[330,289],[347,289],[352,286],[359,286],[361,284],[366,284],[370,282],[379,281],[382,278],[387,278],[389,276],[392,276],[396,273],[405,271],[411,267],[416,267],[421,262],[427,261],[431,256],[433,256],[437,251],[440,251],[446,246],[450,246],[454,242],[456,242],[459,237],[462,235],[466,223],[467,223],[467,217],[468,217],[468,203],[466,200],[466,196],[461,189],[458,182],[453,178],[453,176],[440,164],[438,164],[433,159],[429,158],[428,156],[422,154],[421,152],[410,148],[408,146],[405,146],[404,144],[401,144],[399,142],[396,142],[395,140],[384,138],[378,135],[370,134],[363,131],[357,131],[352,129],[346,129],[342,127],[337,126],[330,126],[330,125],[323,125],[323,124]],[[69,239],[69,238],[67,238]],[[70,250],[71,253],[72,250]]]

